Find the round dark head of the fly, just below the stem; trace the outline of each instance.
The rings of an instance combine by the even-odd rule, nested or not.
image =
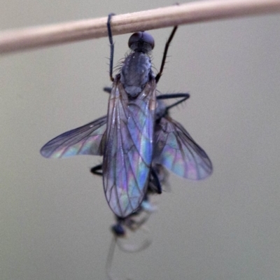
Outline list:
[[[140,31],[130,36],[128,46],[130,47],[130,50],[134,52],[143,52],[148,54],[151,50],[153,50],[155,41],[151,34],[148,34],[148,32],[145,31]]]

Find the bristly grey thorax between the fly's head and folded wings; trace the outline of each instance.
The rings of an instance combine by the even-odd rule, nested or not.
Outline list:
[[[123,63],[120,71],[120,83],[123,84],[127,94],[134,98],[139,95],[153,76],[150,57],[143,52],[132,52]]]

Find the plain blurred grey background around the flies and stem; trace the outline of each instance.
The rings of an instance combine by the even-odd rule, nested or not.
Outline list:
[[[109,12],[129,13],[174,1],[1,1],[1,29]],[[280,15],[182,26],[158,89],[190,92],[172,111],[214,164],[200,182],[170,174],[171,192],[155,197],[147,227],[153,244],[116,251],[119,279],[280,278]],[[153,63],[171,28],[151,31]],[[116,36],[116,59],[129,35]],[[101,158],[47,160],[53,137],[106,113],[107,38],[0,57],[0,279],[106,279],[113,215]],[[132,243],[145,238],[141,231]]]

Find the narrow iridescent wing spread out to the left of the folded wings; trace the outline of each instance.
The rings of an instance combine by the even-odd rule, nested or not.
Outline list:
[[[103,155],[107,117],[87,123],[48,141],[41,148],[45,158],[66,158],[72,155]]]

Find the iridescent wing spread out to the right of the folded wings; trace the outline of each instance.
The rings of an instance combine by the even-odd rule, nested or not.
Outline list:
[[[180,123],[162,118],[155,127],[154,160],[175,174],[191,180],[212,173],[211,160]]]

